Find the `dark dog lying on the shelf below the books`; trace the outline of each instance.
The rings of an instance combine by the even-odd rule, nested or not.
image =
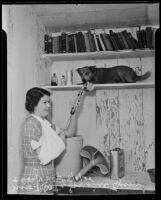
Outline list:
[[[142,81],[150,76],[150,72],[146,72],[142,76],[138,76],[135,71],[123,65],[111,68],[96,68],[96,66],[86,66],[77,69],[82,82],[90,82],[93,84],[105,83],[135,83]]]

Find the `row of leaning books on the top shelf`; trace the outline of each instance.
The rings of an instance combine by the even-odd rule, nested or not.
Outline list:
[[[135,36],[128,30],[109,30],[98,33],[95,30],[75,33],[52,33],[44,35],[45,53],[76,53],[95,51],[117,51],[127,49],[154,49],[156,28],[145,27],[136,30]]]

